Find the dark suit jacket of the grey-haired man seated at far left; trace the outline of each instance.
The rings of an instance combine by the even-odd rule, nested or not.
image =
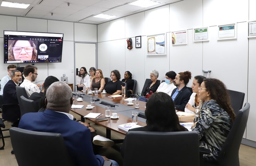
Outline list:
[[[12,80],[9,80],[3,88],[3,104],[19,104],[16,84]]]

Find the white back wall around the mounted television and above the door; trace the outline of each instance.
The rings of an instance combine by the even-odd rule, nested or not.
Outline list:
[[[23,30],[32,32],[64,33],[62,62],[35,64],[38,68],[36,81],[41,81],[41,84],[47,76],[53,75],[60,80],[63,74],[68,76],[69,83],[74,83],[74,43],[97,42],[97,25],[5,15],[0,15],[0,22],[0,32],[3,32],[3,30]],[[0,33],[0,45],[3,45],[2,33]],[[0,59],[3,61],[3,47],[0,47],[0,57],[2,57]],[[9,64],[0,65],[0,78],[7,75],[8,65]],[[26,66],[27,64],[19,65]],[[88,68],[90,67],[88,66]]]

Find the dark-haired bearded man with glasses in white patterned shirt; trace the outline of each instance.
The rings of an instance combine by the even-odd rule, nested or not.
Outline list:
[[[31,94],[34,92],[40,93],[39,87],[36,84],[32,83],[33,81],[36,81],[38,75],[37,67],[29,64],[25,66],[23,74],[25,76],[25,79],[23,83],[20,85],[20,87],[25,88],[27,96],[30,97]]]

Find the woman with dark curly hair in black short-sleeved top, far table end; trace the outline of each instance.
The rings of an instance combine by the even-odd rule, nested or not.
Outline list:
[[[122,81],[120,81],[121,75],[118,70],[111,71],[111,80],[105,85],[105,90],[107,93],[111,93],[113,95],[120,95],[122,93]]]

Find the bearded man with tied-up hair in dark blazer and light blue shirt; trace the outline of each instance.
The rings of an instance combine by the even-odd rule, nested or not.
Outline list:
[[[173,80],[173,83],[177,86],[177,88],[175,88],[171,93],[171,98],[173,99],[176,110],[184,111],[186,103],[188,103],[188,100],[190,99],[191,92],[186,87],[190,79],[191,72],[184,71],[178,73],[175,80]]]

